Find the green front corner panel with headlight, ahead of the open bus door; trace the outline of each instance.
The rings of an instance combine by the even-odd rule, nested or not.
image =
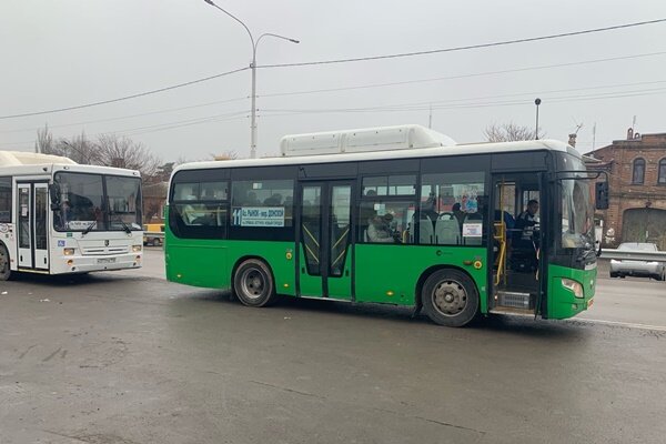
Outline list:
[[[559,265],[548,265],[548,317],[567,319],[587,310],[594,297],[597,270],[575,270]],[[583,284],[579,299],[562,285],[562,278],[572,279]]]

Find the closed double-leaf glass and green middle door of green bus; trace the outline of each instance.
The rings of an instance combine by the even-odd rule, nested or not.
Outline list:
[[[301,184],[299,295],[352,299],[351,182]]]

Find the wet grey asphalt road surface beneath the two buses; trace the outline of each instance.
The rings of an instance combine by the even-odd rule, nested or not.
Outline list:
[[[444,329],[392,307],[243,307],[165,282],[160,254],[0,283],[0,443],[665,440],[664,283],[602,279],[592,321]]]

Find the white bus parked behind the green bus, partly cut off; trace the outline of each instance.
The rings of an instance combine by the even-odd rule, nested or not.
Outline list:
[[[137,269],[142,243],[138,171],[0,152],[0,280]]]

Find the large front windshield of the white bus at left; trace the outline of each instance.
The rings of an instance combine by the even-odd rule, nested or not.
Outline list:
[[[54,212],[58,231],[141,230],[141,180],[90,173],[56,174],[60,208]]]

